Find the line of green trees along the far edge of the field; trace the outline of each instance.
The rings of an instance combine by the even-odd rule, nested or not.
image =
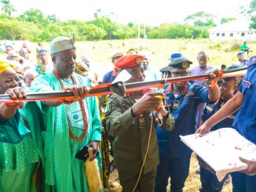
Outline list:
[[[5,2],[5,4],[4,4]],[[252,0],[254,13],[256,0]],[[56,15],[45,16],[38,9],[29,9],[17,17],[12,17],[16,9],[9,0],[2,0],[2,15],[0,15],[0,39],[28,40],[31,42],[49,42],[51,39],[63,35],[70,36],[75,32],[78,41],[97,41],[102,39],[137,38],[138,26],[119,24],[111,16],[103,15],[101,9],[94,13],[94,20],[61,21]],[[5,6],[6,5],[6,6]],[[244,10],[244,8],[243,8]],[[254,17],[253,17],[254,18]],[[157,27],[145,26],[147,38],[208,38],[208,29],[216,26],[216,16],[199,12],[187,16],[184,24],[160,24]],[[236,20],[222,18],[221,24]],[[256,27],[256,26],[254,26]],[[141,37],[144,38],[144,26],[141,26]]]

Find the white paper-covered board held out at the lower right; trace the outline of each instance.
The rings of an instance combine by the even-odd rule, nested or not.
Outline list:
[[[183,143],[214,169],[219,181],[229,172],[247,168],[239,157],[256,159],[256,145],[232,128],[218,129],[203,137],[198,134],[180,137]]]

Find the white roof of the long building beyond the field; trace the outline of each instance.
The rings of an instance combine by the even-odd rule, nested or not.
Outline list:
[[[256,31],[250,29],[250,24],[247,20],[232,20],[225,24],[220,24],[217,27],[210,28],[210,32],[240,32],[240,31]]]

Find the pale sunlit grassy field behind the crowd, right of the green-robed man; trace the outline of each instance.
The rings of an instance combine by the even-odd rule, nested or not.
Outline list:
[[[235,63],[242,42],[212,42],[208,39],[147,39],[145,42],[146,49],[151,53],[151,63],[161,68],[168,64],[168,58],[171,53],[183,53],[189,60],[192,60],[192,67],[197,65],[197,54],[201,50],[209,53],[210,64],[215,67],[221,67],[221,64],[227,66]],[[76,42],[77,53],[80,57],[82,54],[90,56],[93,63],[93,69],[97,70],[100,77],[112,69],[110,57],[115,49],[121,49],[126,52],[130,48],[137,48],[137,39],[122,40],[105,40],[100,42]],[[144,42],[141,42],[144,45]],[[247,42],[251,48],[249,56],[256,53],[256,42]],[[245,54],[246,58],[247,54]],[[78,58],[79,58],[78,57]]]

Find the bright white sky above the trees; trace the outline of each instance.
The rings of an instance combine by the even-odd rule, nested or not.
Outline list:
[[[45,15],[55,14],[60,20],[93,20],[101,9],[103,14],[115,13],[121,24],[133,22],[156,26],[164,22],[181,22],[186,16],[200,11],[222,17],[240,17],[241,5],[251,0],[11,0],[18,10],[40,9]]]

